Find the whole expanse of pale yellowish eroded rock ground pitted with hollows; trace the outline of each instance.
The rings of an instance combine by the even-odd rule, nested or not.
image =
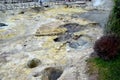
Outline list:
[[[72,17],[88,11],[60,7],[20,12],[1,12],[8,27],[0,29],[0,79],[88,80],[85,60],[103,31],[96,20]]]

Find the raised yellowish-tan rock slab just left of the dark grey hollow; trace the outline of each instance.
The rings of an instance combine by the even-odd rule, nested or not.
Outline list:
[[[60,22],[52,22],[47,25],[42,25],[36,32],[36,36],[55,36],[59,34],[64,34],[67,29],[60,28]]]

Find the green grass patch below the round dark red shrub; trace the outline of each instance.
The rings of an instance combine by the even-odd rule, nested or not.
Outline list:
[[[90,75],[97,72],[97,80],[120,80],[120,57],[111,61],[91,58],[88,67]]]

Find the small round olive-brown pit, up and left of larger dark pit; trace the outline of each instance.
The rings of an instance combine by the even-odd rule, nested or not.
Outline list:
[[[35,68],[35,67],[39,66],[40,64],[41,64],[41,61],[39,59],[33,58],[33,59],[28,61],[27,67]]]

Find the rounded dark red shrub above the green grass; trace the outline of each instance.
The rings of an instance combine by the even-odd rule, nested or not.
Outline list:
[[[110,60],[118,55],[120,39],[113,35],[103,36],[95,42],[94,51],[104,59]]]

